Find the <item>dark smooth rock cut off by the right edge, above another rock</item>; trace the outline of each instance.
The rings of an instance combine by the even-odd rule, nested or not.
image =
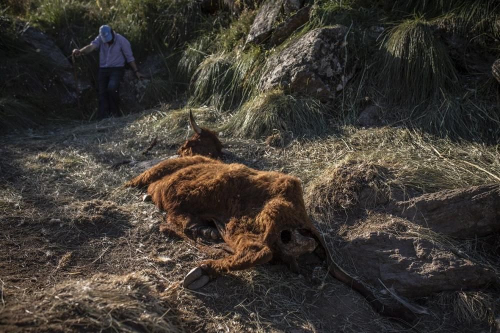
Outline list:
[[[389,211],[446,235],[485,236],[500,231],[500,184],[423,194],[398,201]]]

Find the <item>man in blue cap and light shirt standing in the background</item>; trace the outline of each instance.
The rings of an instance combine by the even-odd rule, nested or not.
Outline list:
[[[99,28],[99,35],[90,44],[73,49],[74,56],[99,50],[98,92],[99,118],[119,115],[119,85],[125,72],[125,62],[130,65],[138,79],[144,77],[135,64],[130,42],[116,33],[109,25]]]

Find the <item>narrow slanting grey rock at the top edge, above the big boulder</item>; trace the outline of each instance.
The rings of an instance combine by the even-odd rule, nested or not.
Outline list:
[[[262,3],[248,32],[246,43],[260,44],[269,37],[282,5],[283,0],[266,0]]]

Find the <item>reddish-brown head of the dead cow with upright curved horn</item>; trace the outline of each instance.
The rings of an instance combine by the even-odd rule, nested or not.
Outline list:
[[[177,154],[180,157],[203,155],[218,158],[222,154],[228,153],[228,151],[222,147],[222,143],[214,131],[208,128],[199,127],[196,124],[191,110],[189,110],[189,124],[194,130],[194,134],[177,150]]]

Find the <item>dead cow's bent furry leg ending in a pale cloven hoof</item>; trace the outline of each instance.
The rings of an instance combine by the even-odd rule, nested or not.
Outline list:
[[[182,285],[189,289],[197,289],[208,283],[210,276],[232,270],[241,270],[258,264],[269,262],[272,251],[260,242],[241,243],[234,254],[217,260],[204,260],[184,277]]]

